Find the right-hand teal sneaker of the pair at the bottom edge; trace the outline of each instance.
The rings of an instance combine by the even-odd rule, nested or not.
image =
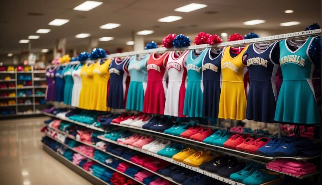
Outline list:
[[[279,178],[279,173],[277,172],[269,172],[265,171],[264,169],[257,169],[254,173],[251,174],[251,176],[244,179],[242,183],[247,185],[260,185],[277,178]]]

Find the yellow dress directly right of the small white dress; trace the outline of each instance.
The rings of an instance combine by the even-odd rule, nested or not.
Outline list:
[[[86,63],[81,68],[81,93],[78,107],[81,109],[92,109],[93,103],[93,70],[95,64]]]

